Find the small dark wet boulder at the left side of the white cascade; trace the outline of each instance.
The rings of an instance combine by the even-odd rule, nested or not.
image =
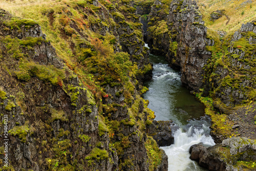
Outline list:
[[[154,120],[151,125],[147,125],[146,133],[152,136],[159,146],[169,146],[174,143],[172,125],[174,125],[172,121]]]

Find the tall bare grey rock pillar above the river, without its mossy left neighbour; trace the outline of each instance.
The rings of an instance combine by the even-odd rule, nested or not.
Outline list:
[[[207,28],[202,21],[195,1],[173,1],[167,17],[170,40],[170,53],[167,60],[174,67],[181,68],[181,81],[188,88],[199,91],[202,87],[204,66],[211,57],[205,49],[214,41],[206,38]]]

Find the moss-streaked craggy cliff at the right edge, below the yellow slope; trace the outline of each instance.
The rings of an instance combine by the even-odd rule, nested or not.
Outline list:
[[[229,41],[227,51],[216,62],[212,77],[215,96],[225,106],[254,101],[255,99],[255,56],[256,25],[242,24]]]

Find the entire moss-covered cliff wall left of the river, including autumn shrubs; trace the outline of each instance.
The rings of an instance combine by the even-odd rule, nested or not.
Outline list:
[[[139,81],[151,65],[139,17],[126,4],[49,4],[38,13],[47,36],[34,20],[1,10],[0,113],[9,121],[9,169],[166,168],[164,152],[145,133],[154,114]]]

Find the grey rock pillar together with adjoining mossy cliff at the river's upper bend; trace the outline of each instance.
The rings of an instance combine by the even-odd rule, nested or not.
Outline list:
[[[208,39],[207,28],[202,21],[196,2],[172,1],[169,11],[155,1],[148,17],[148,45],[152,53],[167,54],[173,68],[181,69],[182,82],[194,91],[203,85],[204,66],[211,53],[205,49],[213,46]]]

